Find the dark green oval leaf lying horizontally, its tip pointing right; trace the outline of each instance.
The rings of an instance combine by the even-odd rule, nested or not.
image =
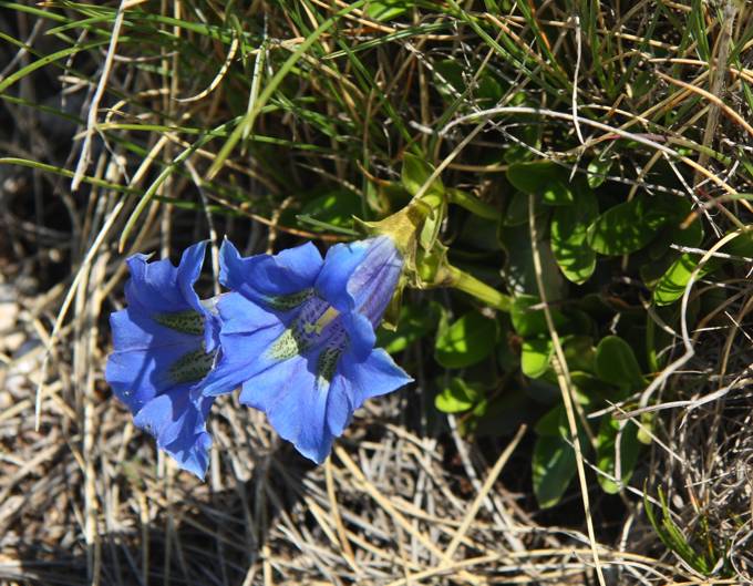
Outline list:
[[[657,203],[636,197],[609,208],[588,228],[588,245],[606,256],[640,250],[671,219],[671,213]]]

